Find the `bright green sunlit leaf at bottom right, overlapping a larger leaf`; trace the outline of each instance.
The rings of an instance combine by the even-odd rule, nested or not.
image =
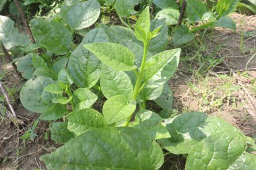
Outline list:
[[[243,154],[247,142],[240,132],[226,131],[209,136],[189,153],[186,170],[226,170]]]

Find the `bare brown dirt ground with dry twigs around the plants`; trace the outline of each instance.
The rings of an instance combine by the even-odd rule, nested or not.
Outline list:
[[[216,58],[225,56],[224,62],[218,65],[218,69],[214,69],[210,72],[212,76],[209,76],[209,81],[207,81],[206,84],[196,79],[194,74],[178,71],[178,78],[170,81],[170,86],[174,92],[174,108],[181,113],[187,111],[207,112],[208,114],[218,116],[230,122],[230,124],[243,130],[248,136],[255,136],[256,120],[252,118],[251,114],[256,115],[256,106],[253,105],[253,102],[248,96],[251,95],[253,99],[256,98],[256,92],[251,90],[252,77],[256,77],[256,71],[253,71],[256,69],[256,57],[249,62],[247,67],[247,69],[251,70],[248,73],[249,77],[243,77],[237,72],[236,75],[232,75],[231,81],[230,79],[223,80],[216,77],[216,75],[228,75],[228,67],[234,71],[237,69],[245,69],[248,60],[256,53],[256,15],[246,16],[233,13],[231,17],[236,20],[237,32],[234,33],[218,28],[214,30],[214,36],[210,38],[210,46],[208,46],[208,50],[211,51],[214,50],[218,44],[224,42],[224,46],[222,46],[218,54],[214,56]],[[241,31],[244,32],[242,52]],[[249,34],[252,35],[250,36]],[[190,55],[192,58],[193,53]],[[185,65],[181,64],[180,67],[186,69]],[[4,81],[5,85],[9,88],[16,87],[19,89],[22,81],[20,81],[10,66],[5,67],[5,62],[0,57],[0,71],[4,70],[7,70]],[[231,97],[234,98],[235,101],[230,101],[228,105],[228,99],[224,98],[221,99],[222,103],[213,107],[209,103],[203,103],[201,100],[204,93],[203,91],[197,93],[197,91],[191,89],[187,83],[191,82],[197,89],[207,87],[211,90],[216,89],[218,85],[227,83],[227,81],[230,81],[232,85],[239,86],[241,86],[241,84],[238,84],[238,81],[241,81],[245,89],[248,89],[249,95],[247,95],[243,89],[239,89],[231,93]],[[216,101],[224,95],[224,92],[222,89],[217,89],[214,91],[214,94],[213,99]],[[15,108],[16,114],[24,124],[16,127],[8,118],[0,118],[0,169],[45,169],[44,163],[39,160],[39,157],[55,150],[57,147],[51,139],[44,138],[45,134],[49,134],[49,123],[39,122],[36,128],[38,137],[34,138],[34,140],[21,140],[20,136],[32,127],[33,122],[38,118],[38,114],[24,109],[20,104],[17,93],[13,95],[11,103]],[[249,114],[248,109],[251,110],[251,114]],[[1,164],[5,157],[7,161]],[[166,155],[162,169],[185,169],[184,163],[185,158],[181,155]]]

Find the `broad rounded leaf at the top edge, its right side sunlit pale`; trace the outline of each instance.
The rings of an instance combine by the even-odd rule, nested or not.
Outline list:
[[[100,3],[95,0],[74,3],[62,11],[61,15],[73,30],[82,30],[97,21],[100,16]]]

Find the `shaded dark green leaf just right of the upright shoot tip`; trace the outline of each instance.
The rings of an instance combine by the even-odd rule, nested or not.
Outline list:
[[[156,28],[162,26],[158,36],[150,40],[148,50],[153,54],[157,54],[166,50],[168,43],[170,42],[168,37],[168,26],[166,26],[164,19],[153,19],[150,24],[150,31],[154,31]]]

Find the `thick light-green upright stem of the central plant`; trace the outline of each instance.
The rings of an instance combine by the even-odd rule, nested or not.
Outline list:
[[[145,69],[146,56],[147,56],[147,52],[148,52],[148,42],[144,42],[143,45],[144,45],[143,58],[142,58],[141,67],[140,67],[140,70],[139,70],[139,75],[137,76],[137,80],[136,80],[136,83],[135,83],[135,87],[134,87],[134,91],[133,91],[133,97],[131,97],[131,101],[136,101],[137,100],[137,97],[139,95],[139,89],[141,87],[143,71]],[[125,121],[125,124],[124,124],[125,126],[129,126],[131,116],[129,116],[127,118],[127,120]]]

